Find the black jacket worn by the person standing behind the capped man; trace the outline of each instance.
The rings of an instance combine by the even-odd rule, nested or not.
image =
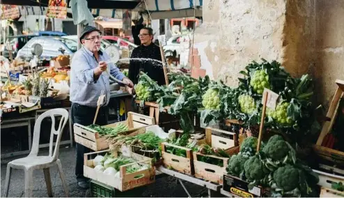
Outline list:
[[[146,59],[155,59],[162,61],[162,56],[160,53],[160,48],[157,47],[154,43],[151,43],[148,46],[140,45],[132,51],[131,58],[146,58]],[[135,61],[130,60],[129,66],[129,79],[137,84],[139,81],[139,73],[143,71],[151,79],[153,79],[157,84],[165,84],[164,70],[162,69],[162,63],[153,62],[153,61]]]

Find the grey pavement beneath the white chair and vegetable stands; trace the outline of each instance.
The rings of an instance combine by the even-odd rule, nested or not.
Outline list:
[[[40,150],[40,155],[47,154],[47,149]],[[1,160],[1,195],[4,195],[7,163],[10,162],[10,160],[23,157],[25,157],[25,155]],[[58,158],[61,160],[63,173],[65,174],[65,179],[68,183],[70,197],[91,197],[90,190],[81,190],[77,186],[77,181],[75,179],[75,157],[75,147],[70,148],[66,146],[60,148]],[[52,179],[53,196],[65,197],[65,192],[61,183],[61,178],[57,172],[57,167],[52,167],[50,169],[50,175]],[[208,195],[206,188],[188,182],[185,182],[184,184],[192,197],[204,197]],[[24,171],[21,169],[13,169],[8,197],[24,196]],[[33,197],[47,197],[47,188],[42,170],[37,170],[33,174]],[[187,194],[173,176],[166,176],[158,178],[157,181],[151,185],[130,190],[128,192],[118,192],[117,197],[187,197]]]

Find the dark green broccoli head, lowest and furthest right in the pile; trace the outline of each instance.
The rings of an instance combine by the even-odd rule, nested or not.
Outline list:
[[[300,172],[299,169],[292,165],[286,165],[276,169],[274,172],[274,181],[278,188],[288,192],[299,186],[300,174],[302,174],[302,172]]]

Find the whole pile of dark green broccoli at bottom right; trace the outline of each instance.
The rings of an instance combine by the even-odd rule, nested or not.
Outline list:
[[[258,153],[256,146],[255,138],[245,139],[240,153],[232,155],[228,161],[228,174],[249,181],[250,188],[254,185],[270,188],[272,197],[317,195],[318,174],[297,159],[294,148],[281,136],[270,137]]]

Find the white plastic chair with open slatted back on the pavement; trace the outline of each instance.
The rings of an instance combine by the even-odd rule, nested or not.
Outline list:
[[[61,121],[58,125],[58,130],[55,130],[55,116],[62,116]],[[49,155],[48,156],[38,156],[39,142],[40,142],[40,125],[42,120],[50,117],[52,119],[52,130],[50,132],[50,142],[49,142]],[[61,161],[58,157],[58,147],[60,145],[61,134],[65,123],[68,121],[68,111],[66,109],[51,109],[47,112],[41,114],[33,130],[33,144],[30,154],[26,158],[20,158],[8,162],[7,172],[6,172],[6,183],[5,183],[5,197],[8,196],[8,188],[10,187],[10,173],[11,168],[13,169],[24,169],[25,172],[25,197],[32,197],[33,190],[33,170],[43,169],[45,176],[45,183],[47,185],[47,192],[49,197],[52,197],[52,181],[50,179],[50,167],[57,165],[58,172],[61,177],[63,188],[65,189],[65,194],[69,197],[67,183],[65,182],[65,176],[62,171]],[[56,145],[53,151],[54,135],[57,135]]]

